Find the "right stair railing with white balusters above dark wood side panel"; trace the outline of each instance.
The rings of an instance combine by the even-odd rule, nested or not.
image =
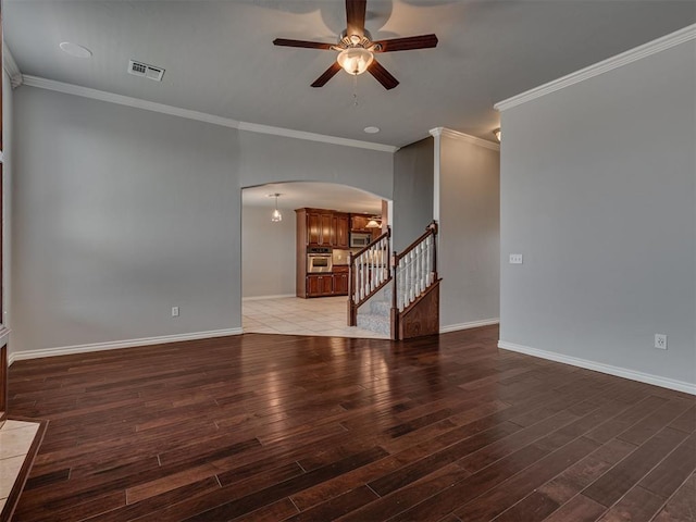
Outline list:
[[[399,314],[437,281],[437,222],[400,253],[391,254],[391,338],[398,336]]]

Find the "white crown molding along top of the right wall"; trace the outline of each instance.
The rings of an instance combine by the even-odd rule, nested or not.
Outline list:
[[[585,79],[594,78],[600,74],[613,71],[614,69],[619,69],[623,65],[627,65],[629,63],[633,63],[637,60],[642,60],[643,58],[656,54],[660,51],[694,39],[696,39],[696,24],[684,27],[683,29],[658,38],[657,40],[644,44],[635,49],[622,52],[621,54],[617,54],[616,57],[609,58],[594,65],[589,65],[588,67],[581,69],[580,71],[544,84],[532,90],[527,90],[526,92],[522,92],[521,95],[499,101],[493,105],[493,108],[497,111],[507,111],[508,109],[521,105],[527,101],[564,89],[566,87],[584,82]]]

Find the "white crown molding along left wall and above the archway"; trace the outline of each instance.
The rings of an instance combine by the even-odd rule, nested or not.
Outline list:
[[[191,111],[188,109],[181,109],[178,107],[165,105],[163,103],[156,103],[153,101],[140,100],[138,98],[132,98],[129,96],[114,95],[104,90],[90,89],[88,87],[80,87],[79,85],[65,84],[62,82],[55,82],[52,79],[40,78],[38,76],[24,75],[24,84],[38,87],[40,89],[54,90],[63,92],[65,95],[82,96],[84,98],[91,98],[95,100],[107,101],[110,103],[117,103],[120,105],[134,107],[136,109],[144,109],[146,111],[161,112],[163,114],[170,114],[173,116],[186,117],[188,120],[196,120],[199,122],[211,123],[213,125],[221,125],[223,127],[237,128],[239,130],[246,130],[249,133],[271,134],[274,136],[284,136],[288,138],[304,139],[308,141],[320,141],[323,144],[340,145],[343,147],[356,147],[360,149],[377,150],[381,152],[394,153],[399,150],[398,147],[390,145],[373,144],[370,141],[360,141],[358,139],[339,138],[337,136],[325,136],[323,134],[306,133],[302,130],[294,130],[291,128],[273,127],[271,125],[260,125],[256,123],[239,122],[229,117],[216,116],[214,114],[208,114],[206,112]]]

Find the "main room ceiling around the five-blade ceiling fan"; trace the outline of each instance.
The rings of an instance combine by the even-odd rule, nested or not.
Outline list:
[[[310,84],[333,51],[274,47],[276,37],[334,42],[343,0],[4,0],[24,74],[224,116],[403,146],[448,127],[493,140],[493,104],[696,22],[693,0],[368,0],[373,38],[436,33],[435,49],[383,53],[400,85],[345,73]],[[87,47],[73,58],[61,41]],[[164,67],[128,75],[129,59]],[[368,135],[369,125],[382,129]]]

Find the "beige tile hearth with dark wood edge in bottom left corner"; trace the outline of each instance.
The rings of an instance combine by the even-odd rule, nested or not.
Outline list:
[[[38,422],[12,420],[0,428],[0,513],[38,430]]]

